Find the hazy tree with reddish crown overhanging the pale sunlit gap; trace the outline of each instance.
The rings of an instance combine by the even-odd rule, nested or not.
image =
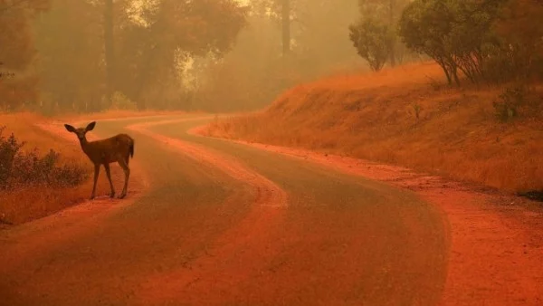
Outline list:
[[[138,22],[123,24],[116,34],[119,90],[140,108],[159,101],[163,107],[175,103],[178,95],[167,92],[181,87],[185,60],[227,53],[245,15],[246,8],[234,0],[145,2],[137,12]]]

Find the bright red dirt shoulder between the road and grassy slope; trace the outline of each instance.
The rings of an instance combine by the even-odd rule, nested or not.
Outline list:
[[[201,135],[204,128],[191,133]],[[451,252],[443,304],[543,302],[543,208],[515,196],[367,160],[298,148],[244,145],[412,190],[443,211]]]

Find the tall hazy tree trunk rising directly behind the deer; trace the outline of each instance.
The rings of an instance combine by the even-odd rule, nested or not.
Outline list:
[[[106,95],[110,102],[115,92],[115,48],[113,42],[113,0],[104,5],[104,50],[106,55]]]

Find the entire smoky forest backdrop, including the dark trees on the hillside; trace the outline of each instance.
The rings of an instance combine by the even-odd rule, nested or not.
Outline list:
[[[256,110],[301,81],[433,59],[526,81],[538,0],[0,0],[0,110]],[[422,57],[421,57],[422,56]]]

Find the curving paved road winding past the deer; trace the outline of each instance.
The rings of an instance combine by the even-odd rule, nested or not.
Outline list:
[[[433,206],[187,133],[207,120],[100,121],[99,136],[136,139],[132,174],[148,186],[1,232],[0,304],[440,303],[450,242]]]

